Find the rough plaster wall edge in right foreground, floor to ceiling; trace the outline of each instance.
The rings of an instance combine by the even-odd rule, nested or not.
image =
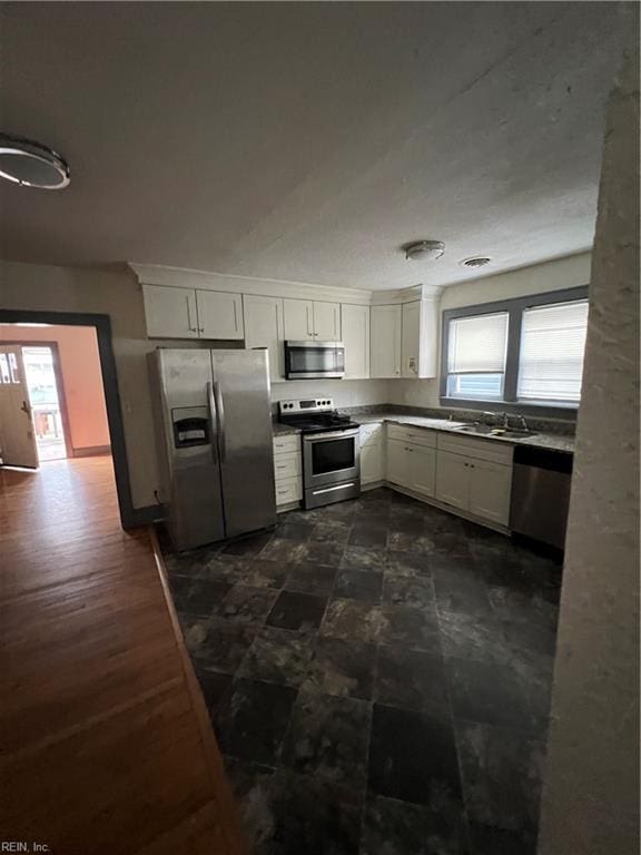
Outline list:
[[[635,49],[638,57],[638,49]],[[639,66],[614,90],[590,286],[541,855],[639,852]]]

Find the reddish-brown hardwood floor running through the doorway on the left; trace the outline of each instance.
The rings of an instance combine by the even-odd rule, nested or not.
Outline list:
[[[247,853],[147,530],[110,458],[0,470],[0,839]]]

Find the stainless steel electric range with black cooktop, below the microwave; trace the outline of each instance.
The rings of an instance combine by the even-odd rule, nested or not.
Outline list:
[[[278,421],[300,429],[305,508],[361,493],[358,425],[335,410],[331,397],[280,401]]]

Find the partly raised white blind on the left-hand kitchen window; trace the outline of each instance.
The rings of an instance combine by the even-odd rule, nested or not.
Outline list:
[[[507,312],[450,322],[448,374],[502,374],[507,346]]]

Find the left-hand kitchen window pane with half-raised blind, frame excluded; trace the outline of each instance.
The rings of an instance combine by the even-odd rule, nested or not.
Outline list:
[[[507,313],[461,317],[450,324],[447,395],[481,401],[503,397]]]

